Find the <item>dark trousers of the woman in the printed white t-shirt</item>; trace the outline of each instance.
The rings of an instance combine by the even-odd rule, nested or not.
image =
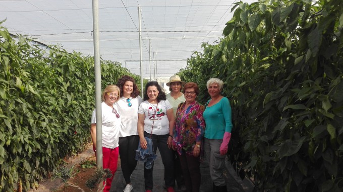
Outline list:
[[[144,137],[150,138],[150,133],[144,131]],[[169,134],[166,135],[151,135],[151,140],[154,145],[154,152],[156,153],[157,148],[161,154],[163,166],[164,166],[164,182],[165,186],[174,187],[175,177],[174,177],[174,161],[173,161],[173,149],[169,149],[167,145]],[[158,158],[158,157],[157,157]],[[153,172],[154,165],[151,169],[145,168],[144,163],[144,180],[145,180],[145,189],[152,190],[153,187]]]

